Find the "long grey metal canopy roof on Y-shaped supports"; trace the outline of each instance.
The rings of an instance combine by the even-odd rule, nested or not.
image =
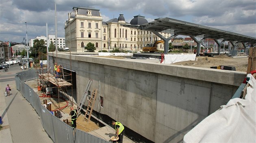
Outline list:
[[[221,29],[216,29],[208,26],[198,25],[185,21],[180,21],[170,18],[156,19],[155,21],[145,23],[139,26],[124,25],[125,27],[134,27],[141,30],[166,32],[171,34],[195,36],[202,38],[212,38],[224,41],[237,41],[237,42],[249,42],[256,43],[256,38],[251,36],[245,36],[234,32],[228,32]]]

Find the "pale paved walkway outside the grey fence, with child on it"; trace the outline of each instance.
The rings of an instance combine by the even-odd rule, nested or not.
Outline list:
[[[0,116],[3,122],[0,143],[53,143],[43,131],[36,111],[16,89],[14,77],[17,72],[20,72],[19,65],[11,65],[8,72],[0,70]],[[5,97],[7,84],[12,90],[10,96]]]

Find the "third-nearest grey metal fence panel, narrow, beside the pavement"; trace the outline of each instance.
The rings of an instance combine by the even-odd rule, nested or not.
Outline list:
[[[46,130],[48,135],[52,138],[52,141],[55,143],[55,136],[54,136],[54,130],[53,130],[53,124],[52,124],[52,114],[48,109],[43,107],[43,105],[39,105],[41,108],[41,121],[43,123],[43,128]]]

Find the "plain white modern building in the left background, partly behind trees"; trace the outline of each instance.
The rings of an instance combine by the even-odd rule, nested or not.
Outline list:
[[[45,46],[47,46],[47,37],[46,36],[37,36],[37,37],[35,37],[35,39],[38,39],[38,40],[43,39],[45,41]],[[30,39],[29,40],[30,47],[33,47],[35,39]],[[55,35],[48,35],[48,39],[49,39],[49,45],[50,45],[51,42],[53,42],[53,44],[55,45],[55,41],[56,41]],[[58,37],[57,42],[58,42],[57,45],[58,45],[59,49],[64,49],[65,48],[65,38]]]

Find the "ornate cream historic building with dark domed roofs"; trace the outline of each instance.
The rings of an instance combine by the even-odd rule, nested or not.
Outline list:
[[[130,23],[125,21],[124,15],[103,21],[100,10],[93,8],[73,7],[65,22],[65,43],[71,51],[83,52],[85,46],[91,42],[96,50],[110,50],[120,48],[124,50],[140,50],[144,45],[160,40],[149,31],[122,25],[141,25],[148,23],[145,17],[137,15]],[[170,34],[162,34],[165,37]],[[163,50],[163,44],[158,44],[158,50]]]

